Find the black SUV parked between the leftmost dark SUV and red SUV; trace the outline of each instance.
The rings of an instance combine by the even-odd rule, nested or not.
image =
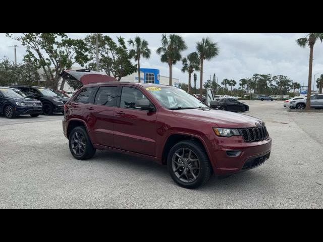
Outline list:
[[[42,113],[44,115],[51,115],[54,112],[64,113],[64,104],[69,98],[60,97],[49,88],[33,87],[33,86],[10,86],[19,89],[27,97],[35,98],[42,103]]]

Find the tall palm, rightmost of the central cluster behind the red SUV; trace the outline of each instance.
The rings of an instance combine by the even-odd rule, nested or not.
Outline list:
[[[208,37],[202,38],[201,42],[196,43],[196,50],[200,59],[200,98],[203,95],[203,62],[204,59],[209,61],[211,58],[217,56],[219,54],[218,43],[212,42]]]

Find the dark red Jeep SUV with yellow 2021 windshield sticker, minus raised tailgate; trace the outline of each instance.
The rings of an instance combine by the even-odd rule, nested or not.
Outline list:
[[[185,188],[206,183],[212,172],[254,168],[269,158],[272,145],[261,120],[148,83],[83,86],[65,104],[63,129],[76,159],[89,159],[96,149],[150,158],[167,164]]]

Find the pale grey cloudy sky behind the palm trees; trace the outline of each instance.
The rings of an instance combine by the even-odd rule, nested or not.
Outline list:
[[[71,38],[84,38],[88,33],[68,33]],[[126,40],[139,35],[148,41],[151,49],[150,59],[142,59],[142,68],[155,68],[160,70],[160,75],[169,76],[166,63],[160,62],[156,49],[160,46],[162,33],[103,33],[115,40],[122,36]],[[169,33],[167,33],[169,34]],[[286,75],[294,82],[307,83],[309,47],[299,47],[295,40],[305,37],[306,33],[177,33],[181,35],[188,49],[182,53],[186,56],[195,51],[196,42],[202,37],[209,37],[218,43],[220,53],[211,61],[204,62],[203,81],[216,73],[219,83],[224,79],[251,77],[254,73]],[[14,60],[14,49],[8,45],[20,45],[0,34],[0,57],[8,56]],[[20,45],[21,46],[21,45]],[[25,48],[17,48],[17,62],[22,62]],[[188,82],[188,75],[181,72],[181,62],[173,67],[173,77],[180,82]],[[319,41],[314,46],[313,75],[323,74],[323,44]],[[199,72],[197,72],[199,83]],[[318,77],[316,75],[315,79]]]

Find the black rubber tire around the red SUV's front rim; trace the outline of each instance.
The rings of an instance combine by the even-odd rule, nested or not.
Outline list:
[[[178,171],[175,172],[173,169],[174,168],[173,165],[175,164],[173,162],[173,157],[177,158],[178,156],[176,156],[175,153],[178,150],[181,150],[183,148],[186,150],[191,150],[192,154],[194,154],[195,158],[197,158],[198,162],[199,162],[198,172],[195,173],[195,175],[197,175],[197,176],[193,181],[190,181],[188,176],[186,176],[188,181],[182,181],[180,179],[180,177],[178,177],[179,172],[180,172],[180,170],[178,170],[179,166],[177,168],[175,167],[176,170],[178,170]],[[183,152],[183,154],[184,154],[184,152]],[[177,160],[177,161],[179,161],[179,160]],[[173,148],[170,150],[170,152],[168,154],[167,166],[168,166],[168,170],[169,170],[173,180],[179,186],[181,186],[183,188],[188,188],[188,189],[194,189],[194,188],[204,185],[209,180],[211,173],[212,173],[212,167],[211,167],[210,161],[208,159],[208,156],[204,150],[204,147],[202,147],[202,145],[200,143],[198,143],[196,141],[192,141],[192,140],[181,141],[173,146]],[[182,167],[184,170],[185,166],[183,164],[182,164]],[[191,166],[191,167],[193,168],[193,166]],[[188,170],[188,168],[186,168],[186,170]],[[190,172],[190,174],[191,174],[191,172],[192,172],[191,168],[189,168],[189,170],[190,171],[186,171],[186,172]],[[184,171],[182,171],[182,172],[184,172]],[[177,173],[177,174],[175,174],[175,173]]]

